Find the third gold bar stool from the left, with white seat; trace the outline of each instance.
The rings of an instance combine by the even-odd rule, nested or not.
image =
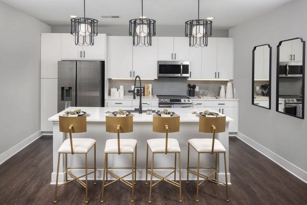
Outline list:
[[[178,140],[176,139],[168,139],[168,133],[170,132],[179,132],[180,127],[180,116],[176,115],[173,117],[160,117],[153,116],[152,123],[152,131],[153,132],[161,132],[165,133],[165,139],[150,139],[147,140],[147,155],[146,155],[146,181],[147,185],[147,174],[150,174],[150,188],[149,188],[149,200],[148,203],[151,203],[151,191],[152,187],[160,183],[161,181],[166,181],[167,183],[179,187],[179,202],[182,202],[182,194],[181,194],[181,165],[180,165],[180,147]],[[148,147],[151,150],[151,167],[149,168],[151,171],[148,171]],[[153,156],[155,154],[175,154],[175,163],[174,167],[153,167]],[[176,161],[178,154],[178,162],[179,162],[179,183],[176,182]],[[153,169],[173,169],[172,172],[167,174],[166,176],[161,176],[160,174],[154,173]],[[167,177],[174,173],[174,180],[168,179]],[[159,178],[155,184],[152,184],[152,176]]]

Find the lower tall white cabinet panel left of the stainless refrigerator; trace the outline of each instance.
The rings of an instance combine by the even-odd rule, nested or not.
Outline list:
[[[57,79],[40,80],[40,131],[52,131],[48,118],[57,113]]]

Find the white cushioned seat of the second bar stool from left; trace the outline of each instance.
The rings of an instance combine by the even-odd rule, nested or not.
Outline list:
[[[120,152],[134,152],[137,142],[137,140],[133,139],[120,139]],[[117,139],[107,140],[105,142],[104,152],[118,152]]]

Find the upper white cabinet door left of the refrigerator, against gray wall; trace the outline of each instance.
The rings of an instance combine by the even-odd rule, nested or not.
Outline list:
[[[61,34],[40,35],[40,77],[57,78],[57,61],[61,60]]]

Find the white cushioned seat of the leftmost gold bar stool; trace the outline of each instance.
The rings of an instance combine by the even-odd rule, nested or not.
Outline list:
[[[74,152],[88,152],[91,147],[96,143],[96,140],[89,138],[73,138],[73,150]],[[67,139],[60,146],[58,152],[71,153],[70,139]]]

